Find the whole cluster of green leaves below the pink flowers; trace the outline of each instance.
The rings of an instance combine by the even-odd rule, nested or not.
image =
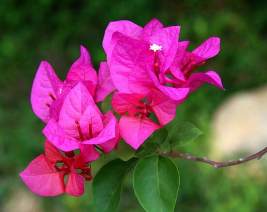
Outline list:
[[[166,128],[155,131],[137,151],[121,139],[114,150],[119,159],[106,163],[93,181],[95,211],[117,211],[124,179],[134,169],[134,193],[142,207],[147,212],[172,212],[179,191],[179,171],[170,158],[156,153],[184,146],[201,134],[192,123],[183,122],[170,132]]]

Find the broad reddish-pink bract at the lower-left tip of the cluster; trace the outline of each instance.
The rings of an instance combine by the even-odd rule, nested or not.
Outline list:
[[[58,171],[44,154],[35,158],[19,176],[37,195],[57,196],[65,192],[63,172]]]

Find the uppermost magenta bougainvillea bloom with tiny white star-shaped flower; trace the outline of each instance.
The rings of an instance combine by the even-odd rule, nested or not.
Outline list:
[[[192,74],[218,53],[219,38],[211,37],[188,52],[189,42],[178,42],[179,26],[163,28],[153,19],[133,33],[122,27],[124,23],[112,22],[103,40],[112,80],[119,92],[141,93],[150,99],[151,89],[158,89],[169,98],[181,100],[202,82],[224,89],[214,71]],[[126,23],[136,28],[134,23]]]

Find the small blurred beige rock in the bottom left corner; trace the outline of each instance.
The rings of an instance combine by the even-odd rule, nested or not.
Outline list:
[[[43,212],[40,201],[31,191],[18,188],[2,202],[1,212]]]

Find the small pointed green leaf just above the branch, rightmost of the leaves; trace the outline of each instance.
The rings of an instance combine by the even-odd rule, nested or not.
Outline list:
[[[203,132],[190,122],[179,123],[170,131],[170,146],[182,147],[201,134],[203,134]]]

